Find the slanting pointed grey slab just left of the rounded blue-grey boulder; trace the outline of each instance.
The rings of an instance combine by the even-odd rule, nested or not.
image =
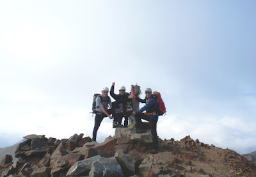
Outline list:
[[[86,176],[89,174],[92,163],[100,158],[100,155],[94,157],[86,158],[84,160],[76,162],[68,170],[67,176]]]

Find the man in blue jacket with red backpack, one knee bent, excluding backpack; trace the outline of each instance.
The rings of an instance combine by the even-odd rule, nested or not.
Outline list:
[[[147,88],[145,89],[145,99],[142,100],[136,96],[134,96],[134,98],[136,98],[136,100],[140,101],[141,103],[145,103],[145,105],[143,107],[141,107],[140,110],[138,111],[133,111],[132,114],[135,115],[135,119],[136,119],[136,133],[141,133],[144,132],[143,129],[143,123],[141,121],[141,119],[145,119],[149,122],[150,125],[150,130],[151,130],[151,134],[153,137],[153,145],[154,145],[154,150],[152,151],[152,153],[157,153],[158,151],[158,137],[157,137],[157,121],[158,121],[158,114],[157,114],[157,103],[156,103],[156,99],[153,98],[152,95],[152,89]],[[143,114],[142,112],[146,111],[145,114]]]

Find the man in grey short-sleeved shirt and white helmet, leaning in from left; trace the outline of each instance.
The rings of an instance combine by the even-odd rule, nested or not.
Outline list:
[[[108,105],[112,107],[111,105],[111,99],[108,96],[108,87],[102,88],[100,96],[96,98],[96,116],[95,116],[95,123],[94,123],[94,128],[92,132],[92,141],[96,141],[97,137],[97,131],[100,127],[100,123],[105,117],[109,117],[109,119],[113,119],[111,114],[111,109],[108,109]]]

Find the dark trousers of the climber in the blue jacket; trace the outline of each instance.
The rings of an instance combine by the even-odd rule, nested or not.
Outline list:
[[[139,129],[143,129],[141,119],[148,121],[150,125],[151,134],[153,137],[153,146],[154,146],[154,149],[158,151],[158,137],[157,137],[157,131],[156,131],[156,124],[157,124],[158,118],[151,119],[151,118],[148,118],[148,116],[145,114],[136,114],[135,119]]]

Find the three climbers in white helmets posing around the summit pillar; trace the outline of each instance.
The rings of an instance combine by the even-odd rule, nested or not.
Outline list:
[[[119,94],[116,95],[114,93],[115,89],[115,82],[112,83],[110,95],[118,102],[121,103],[127,103],[128,96],[127,93],[125,93],[125,87],[121,86],[119,88]],[[128,115],[122,115],[122,116],[111,116],[111,99],[108,96],[109,89],[108,87],[102,88],[102,94],[97,96],[95,102],[95,125],[93,128],[93,141],[96,141],[97,137],[97,130],[99,129],[100,123],[105,117],[109,117],[109,119],[113,119],[113,128],[116,127],[128,127]],[[152,89],[147,88],[145,89],[145,99],[140,99],[136,96],[132,96],[132,98],[138,100],[141,103],[145,103],[141,109],[138,111],[133,111],[132,114],[135,116],[136,119],[136,125],[134,126],[136,128],[136,133],[143,133],[145,132],[143,130],[143,123],[141,119],[147,120],[150,125],[151,134],[153,137],[153,144],[154,144],[154,150],[153,153],[157,153],[158,151],[158,137],[157,137],[157,121],[158,121],[158,105],[157,105],[157,99],[156,96],[152,95]],[[108,109],[109,105],[109,109]],[[143,111],[146,111],[143,113]],[[124,126],[122,126],[122,119],[124,120]]]

